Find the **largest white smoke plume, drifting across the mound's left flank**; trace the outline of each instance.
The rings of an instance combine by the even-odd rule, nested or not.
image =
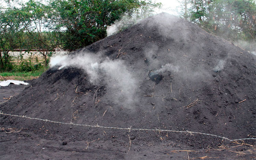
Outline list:
[[[100,54],[77,53],[75,55],[56,56],[51,58],[50,66],[76,67],[83,69],[90,81],[97,84],[104,80],[109,91],[108,98],[116,104],[129,107],[134,102],[136,77],[132,75],[121,60],[102,59]]]

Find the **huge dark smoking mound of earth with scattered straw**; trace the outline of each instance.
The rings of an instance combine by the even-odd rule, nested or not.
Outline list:
[[[19,96],[1,104],[1,111],[66,123],[255,137],[255,56],[184,19],[158,14],[67,55],[67,61],[55,60]],[[127,143],[129,134],[133,144],[171,140],[206,148],[222,143],[207,135],[3,115],[1,126],[66,141]]]

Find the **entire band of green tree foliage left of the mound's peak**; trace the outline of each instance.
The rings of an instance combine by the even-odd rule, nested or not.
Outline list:
[[[55,48],[74,50],[106,36],[106,27],[123,15],[152,12],[159,3],[141,0],[5,0],[0,8],[0,70],[11,70],[9,52],[38,49],[45,58]],[[12,2],[13,2],[12,1]]]

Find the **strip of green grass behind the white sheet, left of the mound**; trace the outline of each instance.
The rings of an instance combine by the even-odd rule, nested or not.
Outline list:
[[[38,78],[44,71],[46,71],[45,68],[42,68],[36,71],[31,71],[31,72],[1,72],[0,81],[5,81],[8,79],[13,79],[18,81],[35,79],[35,78]]]

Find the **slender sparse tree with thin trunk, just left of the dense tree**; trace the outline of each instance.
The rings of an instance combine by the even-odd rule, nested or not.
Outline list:
[[[60,44],[57,37],[49,28],[52,22],[49,20],[50,7],[34,0],[29,0],[20,9],[23,12],[22,25],[30,40],[33,40],[33,49],[44,57],[45,67],[48,64],[47,56]]]

